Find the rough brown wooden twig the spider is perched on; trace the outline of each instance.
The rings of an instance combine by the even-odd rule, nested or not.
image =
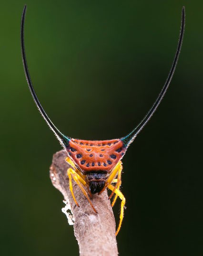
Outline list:
[[[73,181],[73,191],[80,207],[76,206],[69,190],[67,176],[69,164],[65,161],[66,157],[65,150],[53,155],[50,178],[53,186],[63,194],[67,203],[66,208],[71,210],[74,235],[79,244],[80,256],[117,256],[115,219],[107,191],[102,192],[101,195],[95,194],[91,199],[98,212],[96,214],[79,186]],[[68,217],[71,222],[70,213]]]

